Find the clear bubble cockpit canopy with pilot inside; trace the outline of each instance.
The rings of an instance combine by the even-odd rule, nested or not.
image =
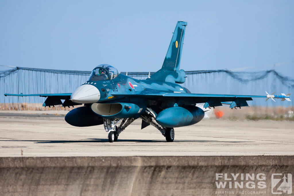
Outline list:
[[[115,67],[107,64],[102,64],[93,69],[89,81],[112,80],[117,76],[118,71]]]

